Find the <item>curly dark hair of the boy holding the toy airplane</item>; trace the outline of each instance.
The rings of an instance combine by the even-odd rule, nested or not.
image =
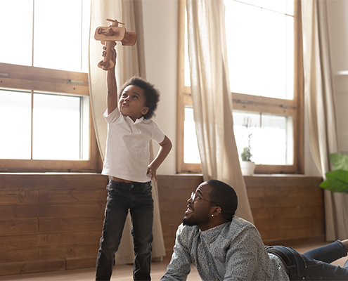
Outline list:
[[[127,86],[134,85],[138,86],[141,89],[144,90],[145,93],[145,99],[146,104],[145,106],[148,107],[148,113],[146,115],[143,115],[144,119],[150,119],[155,115],[155,110],[157,109],[157,104],[160,101],[160,91],[158,91],[155,88],[155,85],[151,84],[149,81],[146,81],[145,79],[134,76],[129,78],[121,87],[120,92],[118,94],[118,99],[120,99],[124,89],[127,88]]]

